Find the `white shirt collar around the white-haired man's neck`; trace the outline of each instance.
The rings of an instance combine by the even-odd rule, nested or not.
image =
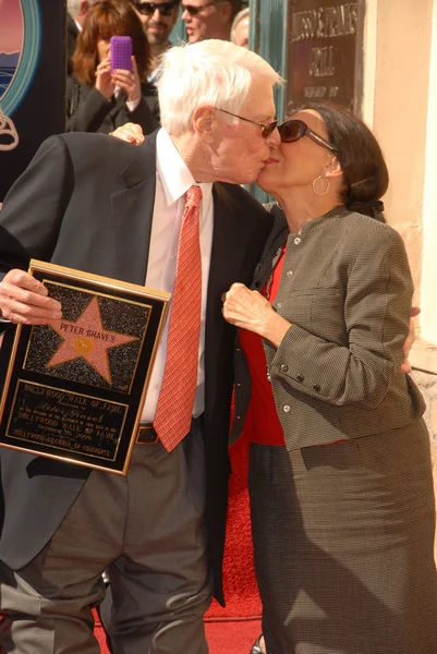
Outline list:
[[[193,184],[202,189],[203,201],[209,199],[213,184],[201,184],[195,181],[169,133],[161,128],[156,140],[156,166],[168,206],[178,202]]]

